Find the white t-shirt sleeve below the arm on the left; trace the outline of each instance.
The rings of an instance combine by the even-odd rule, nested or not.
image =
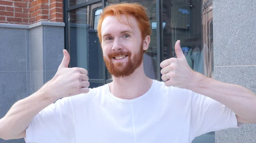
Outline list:
[[[72,103],[62,98],[36,115],[26,129],[26,143],[75,143]]]

